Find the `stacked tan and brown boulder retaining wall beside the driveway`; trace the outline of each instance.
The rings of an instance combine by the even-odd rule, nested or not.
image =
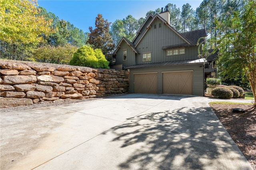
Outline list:
[[[128,93],[128,71],[0,60],[0,107]]]

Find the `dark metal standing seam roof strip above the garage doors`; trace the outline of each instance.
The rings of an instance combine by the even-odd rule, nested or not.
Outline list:
[[[178,60],[178,61],[166,61],[159,63],[145,63],[145,64],[136,64],[125,67],[125,69],[136,69],[136,68],[146,68],[146,67],[163,67],[163,66],[172,66],[172,65],[185,65],[185,64],[198,64],[206,63],[205,58],[200,59],[187,59],[187,60]]]

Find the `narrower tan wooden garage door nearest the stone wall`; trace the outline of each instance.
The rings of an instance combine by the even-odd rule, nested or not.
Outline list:
[[[157,74],[134,74],[134,93],[157,93]]]

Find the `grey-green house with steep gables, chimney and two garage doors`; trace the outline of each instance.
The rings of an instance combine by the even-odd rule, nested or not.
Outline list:
[[[170,26],[168,7],[149,15],[132,42],[122,38],[114,51],[116,68],[127,69],[130,93],[204,95],[204,58],[199,38],[206,30],[179,33]]]

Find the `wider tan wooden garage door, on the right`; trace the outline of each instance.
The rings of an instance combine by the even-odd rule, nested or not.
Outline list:
[[[163,93],[192,95],[192,72],[163,73]]]

